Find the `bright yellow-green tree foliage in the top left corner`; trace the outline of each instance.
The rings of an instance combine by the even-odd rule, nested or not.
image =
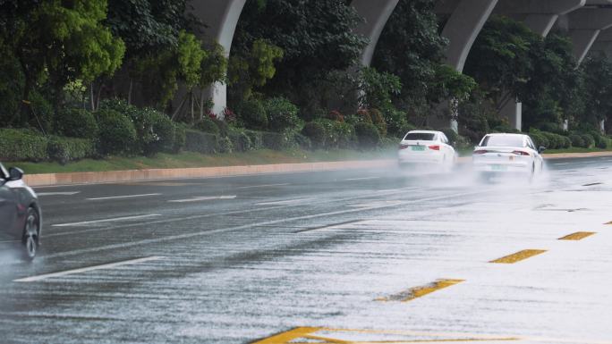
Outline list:
[[[23,99],[47,81],[57,107],[64,85],[112,75],[122,63],[123,41],[103,25],[106,0],[6,1],[2,10],[3,50],[19,61]]]

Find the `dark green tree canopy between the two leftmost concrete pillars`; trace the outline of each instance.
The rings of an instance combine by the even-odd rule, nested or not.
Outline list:
[[[276,76],[264,89],[303,105],[302,91],[327,73],[357,62],[367,40],[353,29],[362,21],[344,0],[250,0],[234,36],[232,54],[250,55],[253,42],[266,39],[284,51]]]

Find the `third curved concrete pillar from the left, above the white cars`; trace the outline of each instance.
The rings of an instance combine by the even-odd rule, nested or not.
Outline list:
[[[497,0],[461,0],[446,21],[442,30],[442,36],[448,39],[446,63],[455,70],[463,71],[472,44],[496,4]]]

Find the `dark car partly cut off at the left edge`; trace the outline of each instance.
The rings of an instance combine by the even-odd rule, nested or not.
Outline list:
[[[20,169],[0,164],[0,238],[21,240],[26,258],[34,259],[42,216],[36,193],[22,178]]]

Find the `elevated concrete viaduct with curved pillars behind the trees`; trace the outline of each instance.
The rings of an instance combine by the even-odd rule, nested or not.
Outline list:
[[[361,53],[363,65],[370,65],[380,33],[398,2],[352,1],[351,5],[365,19],[356,30],[370,39]],[[226,55],[230,54],[234,30],[245,3],[246,0],[191,0],[193,14],[208,26],[203,39],[217,41],[225,48]],[[612,55],[612,0],[438,0],[435,10],[447,18],[442,30],[442,36],[449,42],[446,63],[457,71],[463,71],[474,40],[492,14],[523,21],[542,37],[555,27],[565,29],[574,42],[574,56],[579,63],[591,48]],[[226,105],[225,85],[214,85],[208,92],[215,104],[214,111],[221,113]],[[514,124],[520,127],[520,113],[516,115],[519,118],[514,119]]]

